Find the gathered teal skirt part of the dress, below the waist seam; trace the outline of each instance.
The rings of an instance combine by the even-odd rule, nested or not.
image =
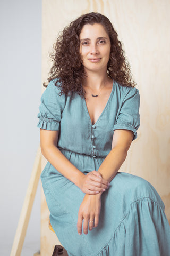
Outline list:
[[[104,160],[61,151],[84,174],[98,170]],[[78,235],[77,231],[84,193],[49,162],[41,181],[50,222],[69,256],[170,256],[164,203],[146,180],[118,172],[101,195],[99,225],[87,235]]]

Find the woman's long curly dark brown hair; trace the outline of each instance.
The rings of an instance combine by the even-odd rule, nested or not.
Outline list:
[[[57,78],[55,85],[60,87],[60,94],[68,95],[70,92],[77,92],[82,97],[84,96],[85,92],[81,84],[86,78],[86,73],[79,50],[79,35],[84,25],[94,25],[95,23],[104,26],[111,41],[111,54],[107,65],[108,76],[122,86],[135,86],[135,82],[132,81],[130,65],[124,56],[122,43],[118,40],[111,21],[100,13],[91,12],[81,15],[65,27],[53,45],[54,52],[50,54],[50,57],[54,65],[50,69],[48,82]],[[44,84],[44,86],[47,85]]]

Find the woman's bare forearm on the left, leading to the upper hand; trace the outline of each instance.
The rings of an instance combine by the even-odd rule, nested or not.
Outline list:
[[[45,149],[41,148],[41,151],[44,157],[58,172],[80,187],[80,180],[84,177],[84,174],[79,171],[55,145],[50,145]]]

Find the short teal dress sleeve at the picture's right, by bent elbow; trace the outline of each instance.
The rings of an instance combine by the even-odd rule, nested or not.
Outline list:
[[[122,102],[122,106],[113,130],[131,130],[134,133],[133,140],[137,138],[137,129],[140,126],[140,95],[136,88],[127,88]]]

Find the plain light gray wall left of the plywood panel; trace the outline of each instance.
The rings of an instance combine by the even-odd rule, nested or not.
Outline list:
[[[39,145],[41,1],[1,0],[0,26],[0,255],[6,256],[10,255]],[[24,243],[25,250],[31,244],[34,252],[40,243],[39,190],[40,186]]]

